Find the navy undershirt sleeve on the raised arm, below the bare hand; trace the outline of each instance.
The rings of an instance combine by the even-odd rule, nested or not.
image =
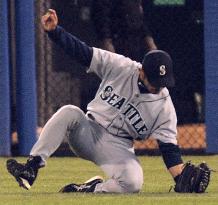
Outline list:
[[[93,48],[79,40],[77,37],[57,26],[55,30],[49,31],[48,37],[65,50],[73,59],[84,66],[89,67],[93,56]]]

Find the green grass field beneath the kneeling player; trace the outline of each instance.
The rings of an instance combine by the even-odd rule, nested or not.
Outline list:
[[[161,157],[139,157],[144,170],[144,185],[139,194],[61,194],[58,190],[70,182],[81,183],[94,175],[103,175],[91,162],[78,158],[50,158],[47,166],[40,170],[31,190],[18,187],[14,178],[6,171],[7,158],[0,158],[0,204],[13,205],[211,205],[218,204],[218,172],[212,173],[211,183],[205,194],[177,194],[168,192],[173,180],[166,171]],[[25,161],[24,158],[18,158]],[[218,170],[218,156],[186,156],[184,160],[194,163],[206,161]]]

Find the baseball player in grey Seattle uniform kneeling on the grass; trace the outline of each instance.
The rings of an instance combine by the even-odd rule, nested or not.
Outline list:
[[[73,152],[98,165],[108,179],[95,177],[83,184],[71,183],[60,192],[139,192],[143,171],[134,154],[133,140],[150,136],[157,139],[164,163],[176,183],[181,181],[187,166],[177,145],[177,117],[166,88],[175,83],[169,54],[150,51],[139,63],[89,47],[58,26],[52,9],[42,16],[42,26],[53,42],[102,81],[86,114],[74,105],[63,106],[44,126],[25,164],[14,159],[7,161],[7,169],[19,185],[30,189],[38,170],[66,136]],[[204,180],[209,183],[209,177]],[[208,183],[204,183],[205,187]]]

